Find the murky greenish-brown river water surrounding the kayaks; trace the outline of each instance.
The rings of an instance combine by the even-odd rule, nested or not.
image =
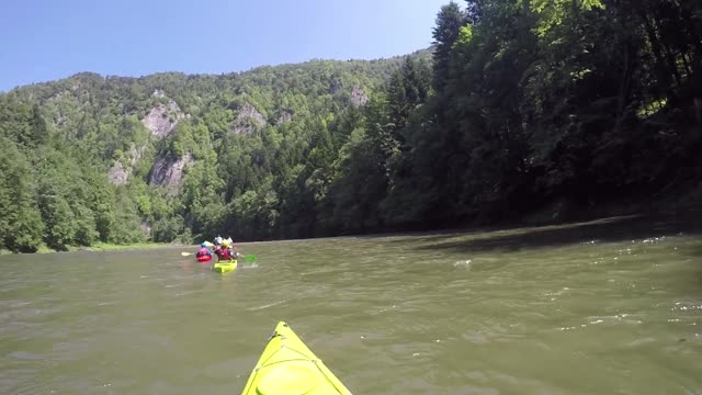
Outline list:
[[[355,394],[702,394],[687,218],[0,257],[3,394],[237,394],[286,320]]]

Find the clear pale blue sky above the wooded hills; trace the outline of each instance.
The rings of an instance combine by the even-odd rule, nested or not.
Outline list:
[[[2,0],[0,91],[79,71],[229,72],[431,44],[449,0]]]

